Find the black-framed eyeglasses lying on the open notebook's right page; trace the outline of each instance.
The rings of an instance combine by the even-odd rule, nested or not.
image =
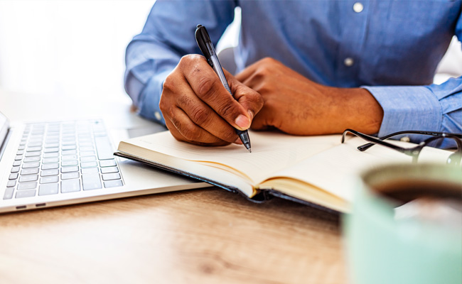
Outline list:
[[[436,132],[436,131],[399,131],[395,133],[391,133],[387,136],[383,136],[382,138],[376,138],[374,136],[370,136],[364,133],[360,133],[358,131],[355,131],[353,129],[345,129],[342,134],[342,143],[345,141],[345,136],[347,133],[352,133],[355,136],[358,136],[365,141],[369,141],[370,143],[361,145],[358,147],[358,150],[363,152],[366,151],[368,148],[374,146],[375,144],[380,144],[382,146],[392,148],[393,150],[399,151],[401,153],[404,153],[406,155],[410,155],[412,157],[412,162],[417,162],[419,159],[419,155],[422,151],[422,149],[425,146],[429,146],[429,143],[434,142],[434,141],[443,141],[445,138],[450,138],[456,141],[457,145],[457,151],[449,155],[448,160],[446,163],[450,165],[461,165],[461,160],[462,160],[462,134],[458,133],[448,133],[448,132]],[[426,135],[426,136],[431,136],[430,138],[427,138],[426,140],[422,141],[419,143],[417,146],[410,147],[410,148],[404,148],[400,147],[397,145],[394,145],[392,143],[389,143],[385,140],[388,138],[393,138],[394,136],[399,136],[403,134],[421,134],[421,135]]]

